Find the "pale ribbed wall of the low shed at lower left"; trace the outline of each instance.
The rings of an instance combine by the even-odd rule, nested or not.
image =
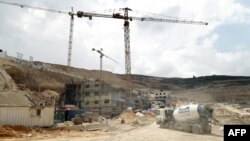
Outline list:
[[[0,107],[0,125],[52,126],[54,123],[54,107],[37,109],[31,107]]]

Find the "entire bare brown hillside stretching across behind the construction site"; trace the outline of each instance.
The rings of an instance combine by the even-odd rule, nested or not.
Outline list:
[[[54,90],[61,93],[64,84],[86,79],[99,79],[97,70],[79,69],[56,64],[34,62],[47,68],[34,69],[0,59],[0,67],[12,77],[21,89],[33,91]],[[53,70],[53,71],[52,71]],[[124,75],[103,71],[102,79],[111,85],[124,87]],[[245,102],[250,101],[250,77],[201,76],[193,78],[163,78],[132,75],[133,88],[169,90],[172,97],[181,101]]]

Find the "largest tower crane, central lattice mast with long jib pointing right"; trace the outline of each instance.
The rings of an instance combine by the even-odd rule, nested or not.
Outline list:
[[[177,20],[177,19],[163,19],[163,18],[154,18],[154,17],[135,17],[129,16],[128,12],[132,11],[132,9],[125,7],[121,8],[120,10],[124,11],[124,15],[120,13],[113,13],[112,15],[108,14],[98,14],[98,13],[90,13],[90,12],[83,12],[77,11],[76,15],[78,18],[88,17],[92,19],[92,17],[102,17],[102,18],[113,18],[113,19],[121,19],[124,20],[124,46],[125,46],[125,83],[127,87],[127,95],[129,100],[127,100],[127,105],[129,104],[128,101],[131,100],[132,96],[132,80],[131,80],[131,54],[130,54],[130,29],[129,29],[129,21],[147,21],[147,22],[165,22],[165,23],[179,23],[179,24],[196,24],[196,25],[208,25],[207,22],[202,21],[190,21],[190,20]]]

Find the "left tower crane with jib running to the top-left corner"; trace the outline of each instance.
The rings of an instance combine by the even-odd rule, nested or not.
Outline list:
[[[42,7],[36,7],[36,6],[30,6],[26,4],[19,4],[14,2],[6,2],[6,1],[0,1],[1,4],[7,4],[7,5],[13,5],[18,6],[21,8],[30,8],[30,9],[36,9],[46,12],[54,12],[54,13],[60,13],[60,14],[66,14],[70,16],[70,28],[69,28],[69,45],[68,45],[68,58],[67,58],[67,66],[71,66],[71,56],[72,56],[72,43],[73,43],[73,29],[74,29],[74,11],[73,7],[71,8],[71,12],[64,12],[60,10],[54,10],[49,8],[42,8]]]

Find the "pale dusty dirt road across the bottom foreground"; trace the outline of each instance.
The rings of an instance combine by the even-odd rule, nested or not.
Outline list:
[[[223,137],[196,135],[174,130],[161,129],[155,123],[127,132],[99,137],[64,137],[45,139],[47,141],[222,141]]]

